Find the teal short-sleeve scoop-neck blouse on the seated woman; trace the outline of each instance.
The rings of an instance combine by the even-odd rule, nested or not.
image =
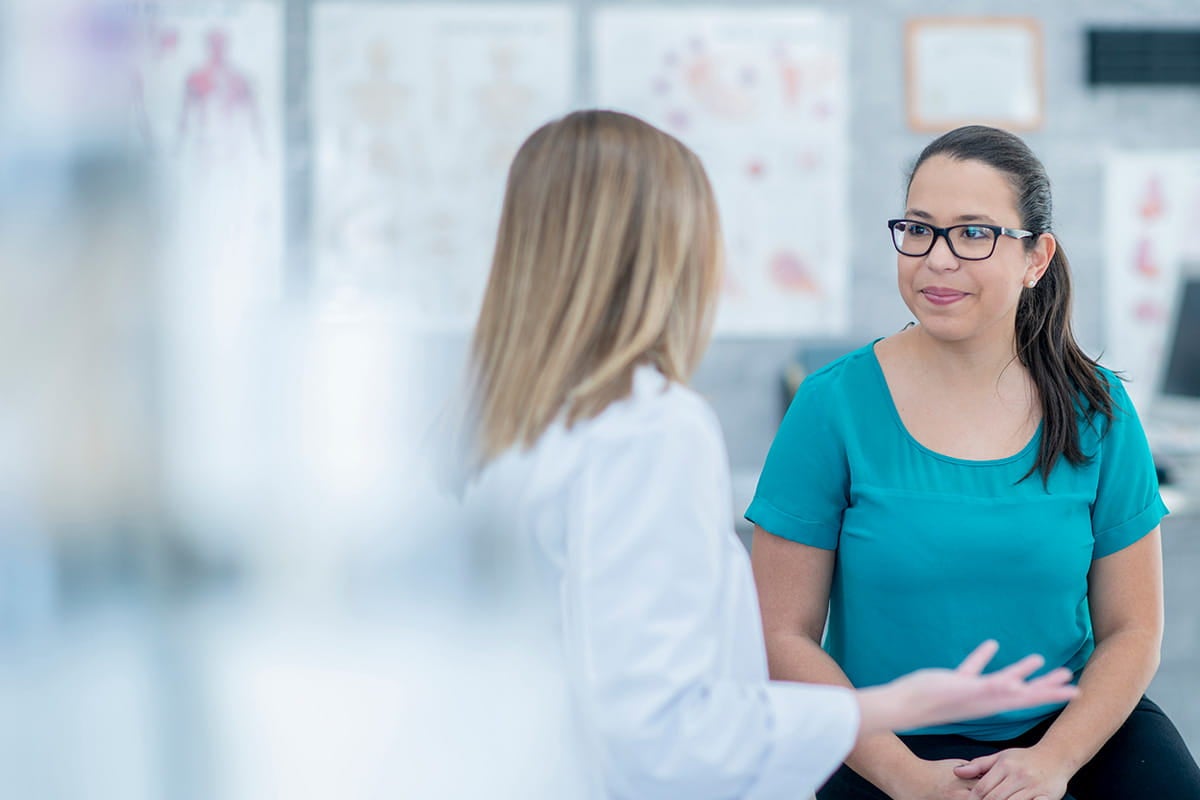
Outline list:
[[[982,639],[998,669],[1030,652],[1078,675],[1094,648],[1093,559],[1138,541],[1168,513],[1138,415],[1109,383],[1115,419],[1080,417],[1091,459],[1022,477],[1040,429],[1016,455],[952,458],[900,420],[874,344],[809,375],[793,398],[746,519],[838,552],[824,649],[856,686],[954,667]],[[910,733],[1000,740],[1058,706]]]

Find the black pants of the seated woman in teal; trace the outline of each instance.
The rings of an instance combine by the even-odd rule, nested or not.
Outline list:
[[[1016,739],[979,741],[958,735],[901,736],[918,758],[971,760],[1009,747],[1031,747],[1055,717]],[[1067,786],[1074,800],[1200,800],[1200,768],[1163,710],[1145,697],[1100,752]],[[817,792],[817,800],[890,800],[845,764]]]

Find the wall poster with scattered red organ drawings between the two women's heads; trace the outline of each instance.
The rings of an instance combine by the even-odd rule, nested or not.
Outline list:
[[[720,335],[848,324],[847,32],[793,10],[602,8],[595,101],[692,148],[727,248]]]

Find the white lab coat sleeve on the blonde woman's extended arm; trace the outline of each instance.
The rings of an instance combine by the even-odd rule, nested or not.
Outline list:
[[[589,443],[570,499],[564,634],[588,738],[618,798],[814,792],[858,730],[845,688],[720,678],[731,558],[720,429],[682,413]]]

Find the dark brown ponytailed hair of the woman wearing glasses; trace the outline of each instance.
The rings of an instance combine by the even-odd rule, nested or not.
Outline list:
[[[983,125],[943,133],[917,157],[908,174],[910,187],[912,176],[932,156],[978,161],[1003,173],[1016,196],[1021,227],[1034,234],[1025,240],[1026,248],[1032,249],[1038,236],[1050,233],[1050,179],[1038,157],[1018,137]],[[1084,353],[1070,329],[1070,266],[1061,241],[1037,288],[1021,291],[1016,306],[1016,357],[1037,386],[1043,420],[1038,457],[1025,477],[1042,473],[1044,483],[1060,456],[1074,465],[1090,461],[1079,444],[1080,414],[1088,423],[1097,414],[1109,421],[1114,414],[1109,385],[1098,362]]]

